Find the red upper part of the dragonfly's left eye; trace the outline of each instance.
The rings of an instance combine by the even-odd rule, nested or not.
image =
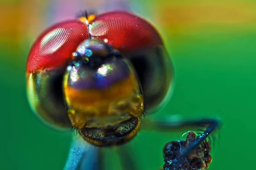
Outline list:
[[[44,31],[32,46],[26,73],[64,68],[77,46],[89,38],[88,28],[76,20],[58,23]]]

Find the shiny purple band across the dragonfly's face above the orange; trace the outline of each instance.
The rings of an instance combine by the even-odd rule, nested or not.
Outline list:
[[[69,85],[81,90],[104,90],[125,80],[131,74],[130,69],[123,59],[107,59],[97,70],[84,66],[73,67],[70,70]]]

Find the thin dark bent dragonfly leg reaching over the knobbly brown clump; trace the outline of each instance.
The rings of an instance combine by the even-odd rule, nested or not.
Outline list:
[[[184,127],[199,127],[205,126],[206,130],[201,134],[194,142],[189,144],[189,146],[183,148],[181,150],[182,156],[187,156],[193,149],[198,147],[201,143],[203,143],[207,137],[217,128],[221,126],[221,121],[218,119],[201,119],[201,120],[188,120],[188,121],[172,121],[172,117],[166,117],[163,119],[150,121],[148,119],[144,119],[144,129],[145,130],[157,130],[157,131],[177,131],[180,129],[184,129]],[[188,129],[187,129],[188,130]]]

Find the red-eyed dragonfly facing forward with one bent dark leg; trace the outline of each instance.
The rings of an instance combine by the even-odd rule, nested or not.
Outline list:
[[[174,64],[162,37],[126,0],[86,2],[76,19],[56,23],[38,37],[26,65],[27,96],[38,119],[53,130],[79,133],[64,170],[104,169],[101,148],[130,142],[140,128],[205,126],[181,150],[180,158],[188,156],[221,122],[146,119],[168,103],[174,87]],[[124,168],[137,169],[135,160],[126,161]]]

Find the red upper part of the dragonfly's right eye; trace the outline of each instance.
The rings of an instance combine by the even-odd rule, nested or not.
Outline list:
[[[98,15],[90,23],[90,33],[120,51],[163,44],[157,31],[148,22],[124,11]]]

